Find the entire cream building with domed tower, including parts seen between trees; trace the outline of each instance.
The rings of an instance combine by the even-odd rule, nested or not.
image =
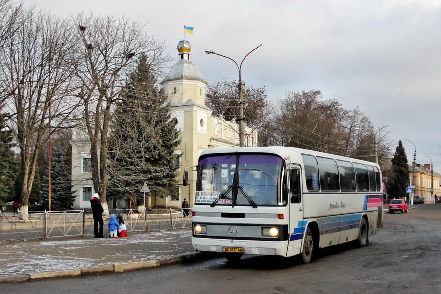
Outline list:
[[[224,120],[222,116],[212,116],[212,110],[205,105],[205,87],[208,84],[201,73],[190,61],[191,46],[188,41],[180,41],[177,46],[179,60],[161,81],[168,95],[172,116],[177,118],[177,129],[181,132],[182,142],[176,148],[179,155],[180,169],[177,171],[176,195],[161,198],[150,195],[146,200],[147,209],[180,207],[186,198],[190,207],[194,203],[196,172],[189,169],[189,185],[182,185],[184,169],[196,166],[199,154],[211,148],[239,146],[239,125]],[[72,144],[72,184],[77,191],[75,208],[89,208],[90,197],[95,193],[91,180],[90,155],[88,144],[77,137]],[[78,144],[80,143],[80,144]],[[257,146],[257,131],[245,127],[245,146]],[[89,160],[89,162],[88,162]],[[141,187],[140,187],[141,189]],[[118,207],[121,206],[118,201]],[[112,203],[109,203],[109,208]]]

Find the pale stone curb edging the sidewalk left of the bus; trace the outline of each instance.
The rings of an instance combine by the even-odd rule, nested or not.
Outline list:
[[[87,276],[96,275],[103,273],[122,273],[133,270],[146,270],[148,268],[156,268],[164,265],[169,265],[178,262],[189,262],[197,261],[211,258],[212,255],[204,254],[199,252],[185,253],[169,258],[163,259],[153,259],[146,261],[134,261],[134,262],[120,262],[114,264],[107,264],[101,266],[85,267],[81,269],[73,270],[55,270],[46,271],[39,273],[29,273],[29,274],[18,274],[18,275],[8,275],[0,277],[1,283],[17,283],[17,282],[29,282],[39,279],[50,279],[50,278],[60,278],[60,277],[76,277],[76,276]]]

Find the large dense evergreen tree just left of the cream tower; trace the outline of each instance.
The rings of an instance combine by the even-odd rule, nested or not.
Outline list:
[[[180,133],[145,55],[140,56],[124,96],[111,125],[108,196],[141,200],[144,182],[151,192],[172,196],[179,168],[174,151]]]

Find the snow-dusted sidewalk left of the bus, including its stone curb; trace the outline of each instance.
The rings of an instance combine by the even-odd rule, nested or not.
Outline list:
[[[0,282],[141,270],[198,257],[189,229],[6,242],[0,244]]]

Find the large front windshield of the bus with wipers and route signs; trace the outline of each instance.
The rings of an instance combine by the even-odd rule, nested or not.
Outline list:
[[[285,205],[280,190],[284,165],[272,154],[208,155],[199,161],[195,204]]]

